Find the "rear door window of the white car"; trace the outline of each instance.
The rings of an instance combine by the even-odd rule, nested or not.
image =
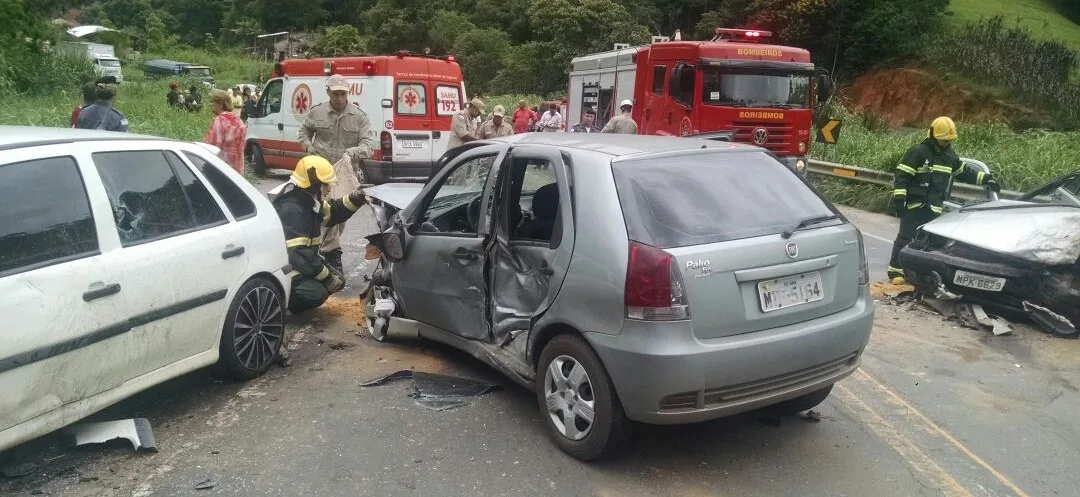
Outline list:
[[[171,161],[161,150],[137,150],[93,158],[124,246],[226,223],[213,196],[178,157]]]

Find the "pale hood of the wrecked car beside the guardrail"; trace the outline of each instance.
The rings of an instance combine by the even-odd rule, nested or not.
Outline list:
[[[1048,266],[1080,259],[1080,209],[1072,206],[988,202],[946,214],[922,229]]]

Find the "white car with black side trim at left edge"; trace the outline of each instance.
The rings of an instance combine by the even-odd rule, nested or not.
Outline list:
[[[261,375],[289,270],[208,145],[0,126],[0,451],[204,366]]]

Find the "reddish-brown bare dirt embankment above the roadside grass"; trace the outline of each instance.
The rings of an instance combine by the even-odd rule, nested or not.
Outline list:
[[[969,91],[920,69],[868,72],[845,89],[843,95],[853,110],[873,111],[893,126],[923,127],[939,116],[964,122],[1007,121],[1021,127],[1042,121],[1031,109]]]

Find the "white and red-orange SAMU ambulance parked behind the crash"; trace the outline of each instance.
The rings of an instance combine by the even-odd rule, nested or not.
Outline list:
[[[365,180],[424,182],[446,151],[450,120],[465,102],[453,56],[396,55],[289,59],[278,63],[247,121],[255,172],[292,171],[305,151],[297,132],[316,104],[328,100],[326,78],[346,77],[350,100],[367,112],[379,148],[361,165]],[[283,105],[285,104],[285,105]]]

